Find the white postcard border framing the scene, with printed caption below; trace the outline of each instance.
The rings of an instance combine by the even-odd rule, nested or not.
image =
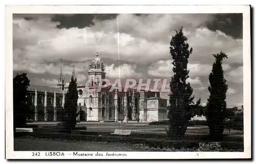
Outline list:
[[[30,151],[13,151],[12,113],[12,14],[13,13],[243,13],[243,79],[244,79],[244,152],[118,152],[127,159],[191,159],[251,157],[251,52],[249,6],[6,6],[6,158],[7,159],[97,159],[84,156],[34,157]],[[8,121],[8,122],[7,122]],[[42,152],[43,154],[45,152]],[[73,152],[65,152],[73,153]],[[103,153],[103,152],[102,152]],[[117,153],[117,152],[116,152]],[[119,157],[104,157],[118,159]],[[121,159],[126,157],[122,156]],[[120,158],[119,158],[120,159]]]

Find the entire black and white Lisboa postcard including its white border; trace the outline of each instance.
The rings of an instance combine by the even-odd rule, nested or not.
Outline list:
[[[6,6],[5,34],[7,159],[251,158],[250,6]]]

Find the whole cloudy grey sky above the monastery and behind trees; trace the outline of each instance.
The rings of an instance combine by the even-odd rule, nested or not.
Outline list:
[[[228,55],[223,62],[229,86],[227,104],[240,107],[242,25],[242,14],[14,14],[13,73],[27,73],[30,84],[56,86],[59,67],[69,82],[75,65],[78,82],[84,83],[88,64],[98,52],[109,79],[118,78],[120,71],[124,79],[169,81],[169,42],[175,30],[183,27],[193,48],[188,81],[193,86],[195,101],[207,101],[208,75],[214,62],[211,55],[223,51]],[[167,99],[166,94],[161,96]]]

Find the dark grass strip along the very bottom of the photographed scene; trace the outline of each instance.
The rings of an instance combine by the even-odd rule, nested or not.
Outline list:
[[[242,151],[242,149],[155,148],[145,144],[88,142],[33,137],[14,138],[14,151]]]

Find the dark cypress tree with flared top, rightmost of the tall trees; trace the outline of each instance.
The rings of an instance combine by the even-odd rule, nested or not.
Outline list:
[[[212,64],[212,71],[209,75],[210,96],[206,104],[206,118],[209,126],[210,136],[217,139],[222,137],[224,131],[224,119],[226,113],[226,92],[228,86],[224,79],[222,61],[227,58],[223,52],[213,54],[215,62]]]

